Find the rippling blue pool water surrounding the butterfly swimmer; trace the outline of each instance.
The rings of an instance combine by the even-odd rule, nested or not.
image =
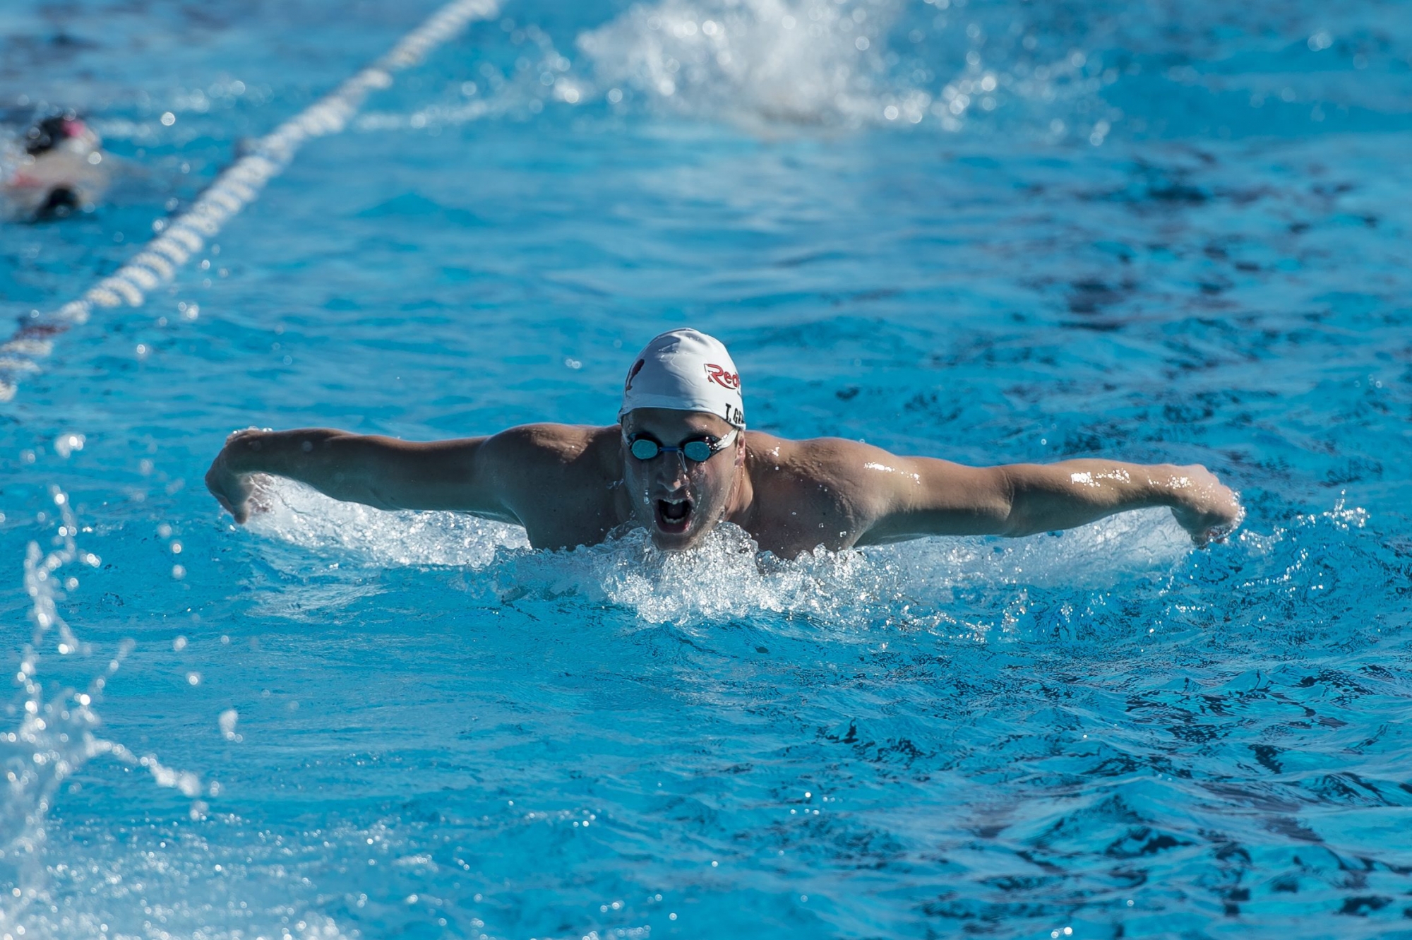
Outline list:
[[[116,169],[0,227],[4,311],[433,8],[7,6],[0,104]],[[0,934],[1412,936],[1408,13],[507,1],[3,406]],[[203,490],[251,423],[607,422],[682,323],[755,428],[1200,462],[1245,526],[534,553]]]

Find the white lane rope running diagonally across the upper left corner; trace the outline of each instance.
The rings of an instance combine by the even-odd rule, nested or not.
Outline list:
[[[186,212],[171,219],[127,264],[78,301],[48,313],[34,311],[20,318],[16,332],[0,343],[0,402],[14,398],[24,375],[40,371],[40,363],[54,351],[55,337],[86,323],[95,308],[141,306],[151,291],[171,284],[181,265],[232,216],[254,202],[306,141],[342,131],[369,92],[388,88],[393,75],[421,62],[472,20],[493,17],[498,7],[498,0],[452,0],[383,58],[256,141],[244,157],[216,175]]]

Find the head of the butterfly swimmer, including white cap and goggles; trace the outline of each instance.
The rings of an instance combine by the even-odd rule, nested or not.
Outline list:
[[[746,459],[740,375],[690,329],[655,337],[623,387],[623,478],[634,518],[664,549],[690,548],[730,508]]]

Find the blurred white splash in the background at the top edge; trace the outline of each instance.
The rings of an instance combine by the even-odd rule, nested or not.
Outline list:
[[[1097,145],[1123,117],[1101,97],[1121,72],[1093,51],[1111,42],[1113,20],[1100,10],[1087,35],[1059,42],[1041,11],[964,0],[666,0],[631,7],[578,45],[600,90],[754,130],[960,131],[979,120]]]

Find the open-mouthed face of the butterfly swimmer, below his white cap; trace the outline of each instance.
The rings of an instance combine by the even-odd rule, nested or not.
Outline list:
[[[700,463],[678,452],[638,460],[628,440],[647,436],[659,445],[679,447],[688,440],[720,440],[733,428],[700,411],[638,408],[623,416],[623,480],[633,498],[633,518],[652,534],[661,549],[685,549],[700,542],[720,521],[744,457],[743,438]]]

